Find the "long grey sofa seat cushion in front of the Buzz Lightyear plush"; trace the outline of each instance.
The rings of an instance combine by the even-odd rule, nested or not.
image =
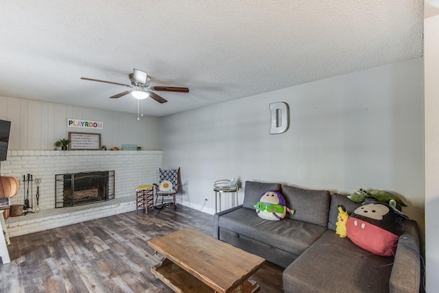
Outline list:
[[[241,208],[219,217],[219,227],[259,242],[300,255],[327,231],[327,227],[292,219],[267,221],[259,218],[254,209]]]

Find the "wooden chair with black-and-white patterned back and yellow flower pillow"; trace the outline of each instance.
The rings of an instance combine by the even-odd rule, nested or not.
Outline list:
[[[180,167],[178,169],[159,169],[159,182],[154,183],[154,194],[156,196],[156,209],[161,209],[165,204],[174,204],[177,208],[176,194],[180,187]],[[166,198],[165,198],[166,197]],[[158,207],[157,202],[161,204]]]

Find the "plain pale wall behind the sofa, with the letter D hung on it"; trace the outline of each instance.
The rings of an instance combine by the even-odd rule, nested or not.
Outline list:
[[[289,104],[283,134],[269,134],[274,102]],[[399,194],[423,230],[423,121],[417,58],[163,117],[163,167],[181,167],[183,202],[201,208],[208,196],[209,213],[213,183],[224,178],[362,187]]]

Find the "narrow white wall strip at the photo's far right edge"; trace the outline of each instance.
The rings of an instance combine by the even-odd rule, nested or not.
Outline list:
[[[427,292],[439,288],[439,15],[424,21]]]

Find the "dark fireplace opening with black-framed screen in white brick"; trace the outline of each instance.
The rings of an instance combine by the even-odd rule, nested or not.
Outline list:
[[[115,171],[55,175],[55,207],[75,207],[115,198]]]

